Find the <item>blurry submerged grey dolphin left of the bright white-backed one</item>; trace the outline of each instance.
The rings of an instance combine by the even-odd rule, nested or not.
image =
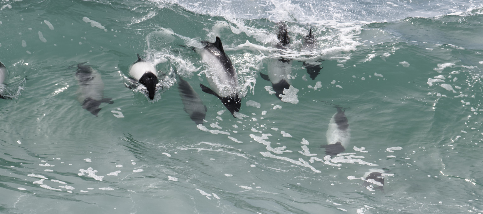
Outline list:
[[[112,98],[104,98],[104,83],[100,78],[97,70],[84,63],[77,64],[75,77],[79,82],[77,90],[77,100],[81,103],[82,108],[97,116],[101,103],[106,102],[113,104]]]

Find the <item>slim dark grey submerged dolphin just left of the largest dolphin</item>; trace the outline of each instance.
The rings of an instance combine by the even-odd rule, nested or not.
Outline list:
[[[178,90],[183,106],[185,107],[185,112],[189,114],[189,117],[196,125],[203,124],[206,112],[208,111],[206,105],[203,105],[203,101],[199,98],[198,93],[196,93],[186,80],[181,78],[181,76],[178,76],[178,78]]]

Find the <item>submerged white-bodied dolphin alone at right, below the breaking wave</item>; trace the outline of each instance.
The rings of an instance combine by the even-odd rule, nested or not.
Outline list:
[[[345,110],[336,106],[337,113],[332,116],[327,129],[327,145],[320,146],[326,148],[326,155],[336,156],[345,151],[351,139],[351,130]]]

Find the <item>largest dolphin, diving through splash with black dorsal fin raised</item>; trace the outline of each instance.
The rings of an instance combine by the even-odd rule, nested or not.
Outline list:
[[[221,100],[231,114],[240,111],[241,98],[238,88],[237,72],[225,54],[219,37],[214,43],[201,41],[205,45],[200,50],[201,58],[209,65],[206,79],[211,88],[199,84],[201,90]]]

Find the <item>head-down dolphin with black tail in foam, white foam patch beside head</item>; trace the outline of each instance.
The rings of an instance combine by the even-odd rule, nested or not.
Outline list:
[[[290,37],[288,36],[287,25],[284,22],[278,24],[277,38],[279,42],[275,45],[276,48],[284,50],[290,44]],[[275,95],[282,100],[280,95],[284,94],[284,89],[290,87],[290,79],[288,76],[292,73],[292,60],[280,57],[270,59],[268,63],[268,75],[260,73],[264,80],[271,82]]]

